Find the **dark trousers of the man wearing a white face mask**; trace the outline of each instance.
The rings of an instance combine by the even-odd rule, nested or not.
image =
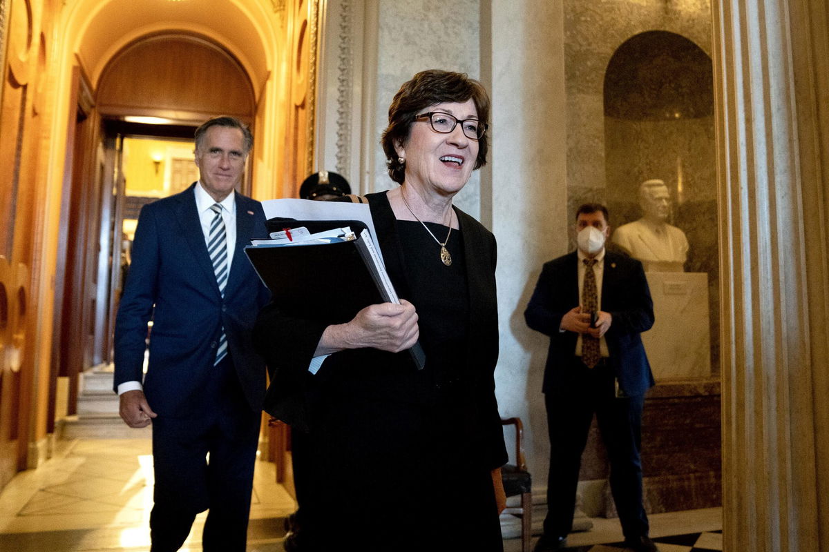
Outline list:
[[[616,396],[613,372],[604,360],[594,368],[579,357],[568,369],[572,385],[545,394],[550,434],[545,535],[564,536],[573,527],[576,487],[593,415],[610,463],[610,490],[625,538],[647,535],[639,456],[644,396]]]

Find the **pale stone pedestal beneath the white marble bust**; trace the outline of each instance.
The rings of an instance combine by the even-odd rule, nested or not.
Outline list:
[[[642,334],[657,382],[709,378],[708,275],[646,272],[656,322]]]

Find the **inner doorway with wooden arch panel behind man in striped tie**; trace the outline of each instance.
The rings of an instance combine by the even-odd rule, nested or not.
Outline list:
[[[174,193],[173,180],[173,187],[195,180],[192,157],[188,162],[182,151],[191,150],[192,132],[201,121],[229,114],[252,125],[256,111],[253,85],[240,62],[206,37],[182,33],[143,36],[125,46],[109,60],[90,95],[91,105],[78,108],[70,203],[61,217],[68,239],[58,266],[65,267],[65,277],[56,279],[63,289],[53,363],[57,376],[69,378],[70,414],[77,375],[111,361],[120,260],[128,248],[124,219],[137,216],[141,204]],[[148,141],[135,137],[155,137],[158,143],[149,151],[140,147]],[[130,141],[146,158],[124,155]],[[165,170],[156,170],[162,163]],[[176,170],[167,170],[172,165]],[[250,193],[250,172],[245,187],[240,191]],[[127,233],[128,227],[129,222]],[[62,324],[67,318],[78,323]]]

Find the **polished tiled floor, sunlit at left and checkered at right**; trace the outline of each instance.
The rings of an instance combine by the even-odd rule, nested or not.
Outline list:
[[[41,468],[19,473],[0,492],[0,552],[113,552],[149,549],[153,497],[149,430],[132,439],[59,441]],[[258,462],[250,510],[248,552],[283,552],[283,520],[293,499],[274,482],[274,464]],[[204,516],[196,518],[185,548],[201,550]],[[623,550],[617,520],[594,519],[592,530],[573,533],[573,552]],[[722,550],[720,509],[651,516],[661,552]],[[669,536],[664,536],[669,535]],[[518,539],[504,541],[518,552]]]

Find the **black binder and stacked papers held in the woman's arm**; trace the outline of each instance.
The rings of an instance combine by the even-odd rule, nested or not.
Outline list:
[[[380,252],[360,221],[284,221],[271,239],[245,247],[259,278],[279,310],[325,324],[344,324],[368,305],[400,304]],[[284,226],[283,226],[284,225]],[[269,228],[274,224],[269,221]],[[312,228],[309,230],[308,228]],[[418,368],[425,358],[420,343],[410,349]]]

